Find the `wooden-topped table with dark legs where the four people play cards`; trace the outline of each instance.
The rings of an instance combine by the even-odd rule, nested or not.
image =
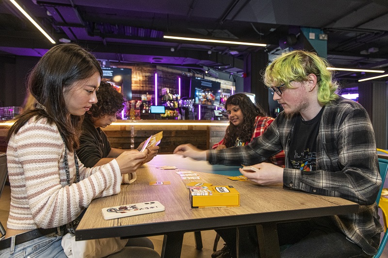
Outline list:
[[[172,154],[157,157],[151,163],[176,159],[177,166],[186,162],[198,164],[191,170],[202,170],[199,166],[201,162],[189,158],[183,161],[181,156]],[[277,222],[358,210],[358,204],[337,197],[286,190],[280,185],[264,187],[251,181],[231,181],[227,176],[204,172],[198,172],[200,182],[233,185],[240,192],[240,207],[192,209],[189,191],[185,186],[190,181],[181,180],[174,172],[178,170],[162,170],[152,164],[139,168],[137,180],[130,185],[122,185],[120,194],[92,201],[76,230],[76,239],[165,235],[162,257],[179,258],[185,232],[258,225],[261,257],[280,257]],[[149,185],[152,181],[170,181],[171,184]],[[102,208],[152,200],[160,201],[165,211],[113,220],[104,220],[102,217]]]

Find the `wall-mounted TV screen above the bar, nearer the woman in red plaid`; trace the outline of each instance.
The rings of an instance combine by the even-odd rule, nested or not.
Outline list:
[[[190,97],[194,98],[194,104],[220,105],[221,83],[200,77],[192,77],[190,84]]]

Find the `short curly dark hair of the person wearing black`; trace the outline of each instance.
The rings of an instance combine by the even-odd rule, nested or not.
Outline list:
[[[123,110],[124,96],[116,91],[109,82],[101,81],[96,95],[97,103],[93,104],[89,110],[93,118],[103,118]]]

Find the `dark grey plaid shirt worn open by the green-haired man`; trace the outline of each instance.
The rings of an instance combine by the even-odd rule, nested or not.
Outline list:
[[[375,254],[371,238],[383,231],[376,204],[382,181],[368,113],[358,103],[342,97],[325,106],[317,137],[315,171],[291,167],[288,152],[295,119],[280,113],[255,141],[239,148],[211,150],[207,159],[211,164],[253,165],[284,150],[283,187],[358,203],[357,213],[330,217],[365,253]]]

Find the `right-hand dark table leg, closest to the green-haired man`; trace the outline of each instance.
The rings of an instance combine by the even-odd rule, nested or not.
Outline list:
[[[261,258],[280,258],[279,239],[275,222],[256,225]]]

